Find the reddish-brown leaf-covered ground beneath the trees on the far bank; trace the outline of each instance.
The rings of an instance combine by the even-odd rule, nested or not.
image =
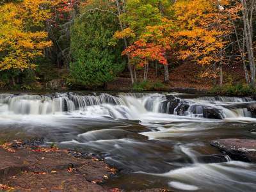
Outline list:
[[[200,67],[196,63],[182,63],[172,69],[170,72],[170,83],[165,84],[166,87],[163,91],[179,91],[179,92],[204,92],[211,90],[214,84],[218,84],[217,79],[211,79],[207,77],[200,77],[200,74],[205,71],[204,67]],[[243,68],[241,66],[234,65],[233,67],[226,66],[223,68],[223,83],[236,84],[243,82]],[[138,72],[138,79],[143,81],[143,73]],[[148,81],[150,82],[163,82],[162,74],[156,75],[153,68],[148,71]],[[115,81],[107,83],[106,90],[120,90],[120,91],[131,91],[131,79],[129,72],[121,74],[120,77],[116,78]],[[160,89],[160,91],[162,91]]]

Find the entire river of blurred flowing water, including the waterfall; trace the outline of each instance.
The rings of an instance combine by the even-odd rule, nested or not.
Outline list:
[[[42,137],[102,157],[126,191],[256,191],[256,164],[211,147],[256,138],[256,100],[179,93],[0,93],[0,137]]]

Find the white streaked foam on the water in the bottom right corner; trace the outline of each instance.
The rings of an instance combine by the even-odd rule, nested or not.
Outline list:
[[[244,170],[244,167],[250,166],[252,170]],[[197,190],[196,186],[201,186],[202,191],[215,191],[218,186],[219,191],[255,191],[256,171],[253,166],[255,165],[250,163],[229,161],[227,163],[194,164],[162,174],[138,173],[170,178],[175,180],[174,184],[169,182],[169,184],[172,183],[170,186],[177,189],[183,187],[182,190],[186,190],[186,188]],[[243,179],[241,180],[241,178]],[[189,185],[186,184],[188,182]]]

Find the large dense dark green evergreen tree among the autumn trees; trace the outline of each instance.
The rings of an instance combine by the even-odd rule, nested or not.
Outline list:
[[[120,57],[122,47],[109,45],[118,28],[118,19],[113,13],[100,10],[90,12],[88,9],[75,20],[71,30],[73,61],[70,72],[77,84],[102,86],[113,80],[125,66],[125,61]]]

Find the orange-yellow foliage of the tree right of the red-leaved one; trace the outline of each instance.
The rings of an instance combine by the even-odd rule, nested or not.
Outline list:
[[[225,35],[230,33],[225,26],[228,20],[223,14],[226,0],[178,0],[173,5],[175,22],[180,29],[173,38],[180,47],[179,58],[193,58],[200,65],[210,65],[222,60],[221,52],[227,42]],[[227,26],[227,25],[226,25]],[[212,76],[216,77],[216,76]]]

